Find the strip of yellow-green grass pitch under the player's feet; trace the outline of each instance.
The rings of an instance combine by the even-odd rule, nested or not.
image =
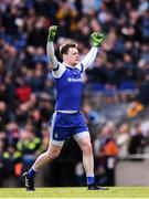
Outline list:
[[[1,188],[0,198],[149,198],[149,187],[111,187],[109,190],[86,188]]]

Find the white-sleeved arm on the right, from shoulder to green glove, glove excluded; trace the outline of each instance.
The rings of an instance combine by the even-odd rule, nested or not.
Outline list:
[[[91,51],[86,54],[84,60],[82,61],[82,64],[84,65],[84,69],[88,67],[93,64],[95,61],[95,57],[97,55],[98,48],[93,46]]]

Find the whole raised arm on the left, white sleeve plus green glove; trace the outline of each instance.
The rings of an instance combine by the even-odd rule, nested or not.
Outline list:
[[[49,28],[49,36],[47,36],[47,44],[46,44],[46,53],[47,53],[47,59],[50,62],[50,69],[51,70],[56,70],[57,67],[57,59],[54,54],[54,45],[53,45],[53,41],[55,38],[57,31],[57,25],[52,25]]]

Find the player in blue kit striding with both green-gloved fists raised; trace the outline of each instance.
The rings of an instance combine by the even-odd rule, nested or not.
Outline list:
[[[57,91],[55,113],[51,125],[51,137],[47,150],[38,157],[32,168],[23,174],[23,182],[26,190],[34,190],[34,176],[47,163],[56,158],[64,145],[64,142],[73,136],[81,147],[83,154],[83,166],[86,172],[88,190],[105,190],[95,184],[94,158],[91,144],[91,135],[81,112],[81,98],[83,88],[83,72],[95,61],[98,48],[105,36],[100,33],[92,33],[92,49],[79,62],[79,53],[76,43],[65,43],[60,48],[60,55],[63,60],[60,63],[54,55],[53,41],[57,27],[49,29],[47,57],[50,69],[55,78]]]

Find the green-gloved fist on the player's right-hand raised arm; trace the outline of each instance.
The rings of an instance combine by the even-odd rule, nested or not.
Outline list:
[[[103,33],[97,33],[97,32],[93,32],[91,34],[91,39],[92,39],[92,43],[93,46],[98,48],[99,45],[102,45],[102,43],[105,40],[105,34]]]

